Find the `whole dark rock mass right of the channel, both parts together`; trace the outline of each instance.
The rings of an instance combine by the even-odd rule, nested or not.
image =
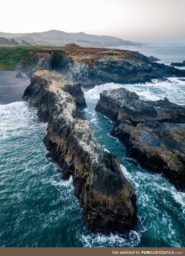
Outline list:
[[[154,172],[162,172],[185,191],[185,106],[164,100],[139,100],[125,88],[104,91],[96,111],[115,121],[111,134],[119,138],[129,157]]]

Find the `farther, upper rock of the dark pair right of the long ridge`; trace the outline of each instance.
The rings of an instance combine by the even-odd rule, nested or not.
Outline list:
[[[136,126],[140,122],[185,122],[185,106],[164,100],[139,100],[135,92],[125,88],[104,91],[100,94],[96,111],[106,115],[113,121],[129,120]]]

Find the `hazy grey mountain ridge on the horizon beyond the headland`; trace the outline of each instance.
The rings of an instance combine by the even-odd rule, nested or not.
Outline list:
[[[44,39],[47,41],[47,44],[52,44],[55,42],[55,44],[59,43],[69,43],[69,42],[82,42],[84,44],[102,44],[104,43],[105,45],[107,43],[114,43],[114,44],[121,44],[121,45],[135,45],[135,44],[140,44],[140,43],[134,43],[129,40],[123,40],[118,37],[114,36],[97,36],[97,35],[91,35],[91,34],[86,34],[84,32],[79,32],[79,33],[67,33],[64,31],[60,30],[49,30],[45,32],[33,32],[33,33],[5,33],[5,32],[0,32],[0,37],[5,37],[5,38],[14,38],[17,41],[20,41],[21,37],[27,37],[32,40],[32,42],[37,42],[40,39]]]

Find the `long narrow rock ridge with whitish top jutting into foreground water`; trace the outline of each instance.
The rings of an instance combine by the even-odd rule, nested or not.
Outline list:
[[[90,123],[79,111],[83,93],[63,75],[38,70],[23,98],[38,106],[38,117],[48,121],[44,143],[58,162],[64,179],[73,176],[83,206],[87,229],[125,233],[137,223],[136,194],[120,169],[119,157],[105,152]]]

